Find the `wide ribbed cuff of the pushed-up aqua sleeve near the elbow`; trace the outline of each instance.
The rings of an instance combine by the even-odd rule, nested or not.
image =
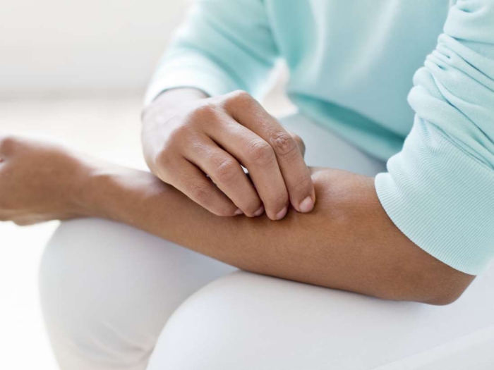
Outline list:
[[[494,257],[494,171],[421,118],[375,177],[387,215],[412,242],[478,275]]]

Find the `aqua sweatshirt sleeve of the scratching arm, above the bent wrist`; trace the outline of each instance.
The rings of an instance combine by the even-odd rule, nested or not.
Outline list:
[[[258,96],[277,55],[263,0],[197,0],[159,63],[145,105],[174,87]]]

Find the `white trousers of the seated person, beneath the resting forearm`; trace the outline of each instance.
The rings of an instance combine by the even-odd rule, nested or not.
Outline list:
[[[301,116],[313,166],[384,164]],[[61,224],[40,269],[64,370],[494,369],[494,269],[454,304],[391,302],[238,271],[123,224]]]

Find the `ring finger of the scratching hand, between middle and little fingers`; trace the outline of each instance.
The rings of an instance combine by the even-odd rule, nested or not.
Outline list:
[[[231,199],[246,216],[260,216],[263,203],[253,183],[243,172],[239,162],[222,148],[206,137],[203,145],[195,147],[188,155],[188,161],[198,166],[210,176],[222,192]]]

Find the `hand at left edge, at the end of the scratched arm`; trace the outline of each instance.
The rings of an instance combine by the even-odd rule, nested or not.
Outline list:
[[[0,221],[30,225],[84,216],[90,166],[64,148],[0,135]]]

